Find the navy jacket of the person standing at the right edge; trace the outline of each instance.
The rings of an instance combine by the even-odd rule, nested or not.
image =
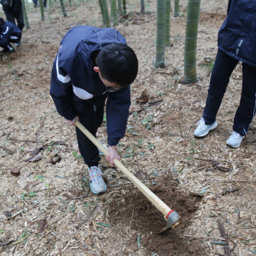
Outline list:
[[[229,0],[228,15],[219,30],[218,46],[232,58],[256,67],[255,0]]]

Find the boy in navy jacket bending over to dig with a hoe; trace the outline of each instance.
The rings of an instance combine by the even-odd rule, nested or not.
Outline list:
[[[137,76],[138,60],[124,37],[114,28],[76,26],[60,42],[53,63],[50,94],[58,113],[75,126],[77,120],[96,137],[108,120],[108,157],[121,160],[116,145],[126,132],[130,84]],[[76,127],[80,154],[87,164],[94,194],[105,192],[98,148]]]

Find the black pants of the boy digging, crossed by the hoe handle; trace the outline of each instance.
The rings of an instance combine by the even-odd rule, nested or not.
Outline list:
[[[96,137],[96,132],[103,123],[104,107],[105,99],[103,99],[101,104],[97,107],[96,105],[89,105],[85,101],[79,101],[74,105],[80,123],[82,123],[94,137]],[[99,149],[77,127],[76,137],[85,164],[87,164],[88,167],[98,166],[99,160],[101,160],[101,157],[99,157]]]

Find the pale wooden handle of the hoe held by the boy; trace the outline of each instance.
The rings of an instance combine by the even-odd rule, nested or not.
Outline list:
[[[108,155],[108,150],[98,141],[98,139],[96,139],[96,137],[92,135],[92,133],[89,132],[89,130],[85,128],[85,126],[83,126],[82,123],[80,123],[80,121],[76,121],[75,124],[88,137],[88,139],[90,139],[92,143],[94,143],[94,145],[104,153],[104,155]],[[171,214],[171,212],[173,212],[170,207],[168,207],[160,198],[155,196],[155,194],[150,189],[148,189],[148,187],[146,187],[140,180],[138,180],[133,175],[133,173],[126,169],[126,167],[124,167],[123,164],[119,162],[119,160],[115,159],[114,164],[122,171],[125,176],[129,178],[131,182],[133,182],[133,184],[140,191],[142,191],[144,196],[146,196],[146,198],[148,198],[148,200],[150,200],[151,203],[153,203],[153,205],[155,205],[155,207],[157,207],[157,209],[160,210],[160,212],[162,212],[166,218],[169,216],[169,214]]]

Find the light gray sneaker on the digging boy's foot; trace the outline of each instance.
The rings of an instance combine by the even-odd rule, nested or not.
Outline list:
[[[101,166],[88,168],[89,172],[89,185],[94,194],[102,194],[106,191],[107,186],[103,180],[103,173]]]

